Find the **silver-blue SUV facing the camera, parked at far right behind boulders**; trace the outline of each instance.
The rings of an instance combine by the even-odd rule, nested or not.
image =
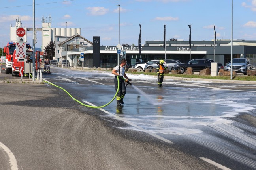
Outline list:
[[[251,64],[246,58],[234,58],[232,60],[233,71],[237,73],[247,74],[247,70],[250,70]],[[231,70],[231,62],[227,65],[227,71]]]

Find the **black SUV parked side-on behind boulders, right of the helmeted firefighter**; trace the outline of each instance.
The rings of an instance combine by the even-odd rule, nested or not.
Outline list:
[[[188,63],[174,65],[172,70],[181,70],[181,73],[184,73],[188,67],[192,67],[194,71],[198,72],[205,68],[211,69],[211,63],[213,62],[211,59],[192,59]]]

